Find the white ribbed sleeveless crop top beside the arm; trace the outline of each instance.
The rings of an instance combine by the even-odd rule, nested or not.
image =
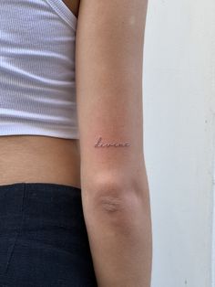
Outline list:
[[[1,0],[0,136],[79,138],[76,29],[62,0]]]

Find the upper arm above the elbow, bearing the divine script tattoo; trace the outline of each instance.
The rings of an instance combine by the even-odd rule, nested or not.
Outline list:
[[[81,0],[76,39],[81,185],[129,179],[143,162],[142,62],[147,0]],[[95,147],[102,143],[128,146]],[[104,178],[104,180],[106,180]]]

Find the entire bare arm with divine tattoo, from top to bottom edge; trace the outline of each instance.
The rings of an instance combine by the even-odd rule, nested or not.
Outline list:
[[[146,0],[81,0],[79,6],[81,189],[99,287],[150,285],[152,237],[142,114],[146,13]]]

